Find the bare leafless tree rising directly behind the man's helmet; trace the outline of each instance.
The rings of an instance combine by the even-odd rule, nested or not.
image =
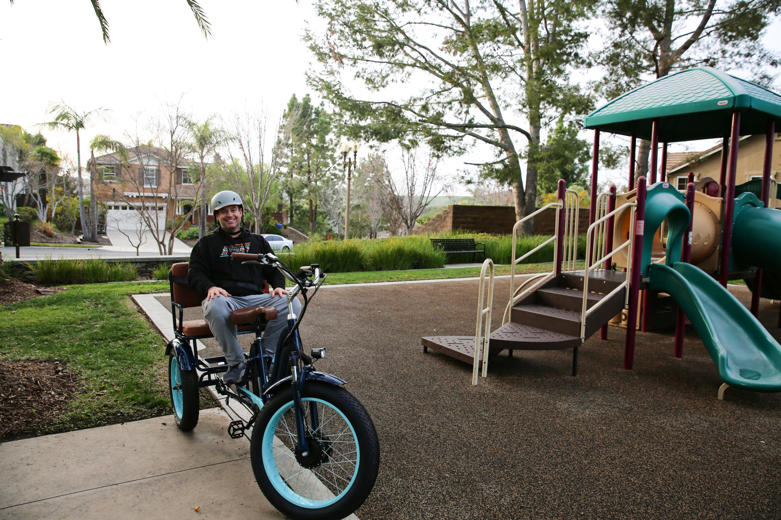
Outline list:
[[[224,168],[245,210],[260,232],[266,203],[284,188],[281,159],[296,133],[297,115],[271,119],[265,111],[235,114],[230,125],[229,161]],[[234,154],[235,152],[235,154]]]

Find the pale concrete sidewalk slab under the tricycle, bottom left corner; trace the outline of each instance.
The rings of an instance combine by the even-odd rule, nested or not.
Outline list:
[[[246,438],[220,409],[0,444],[0,518],[285,518],[263,497]]]

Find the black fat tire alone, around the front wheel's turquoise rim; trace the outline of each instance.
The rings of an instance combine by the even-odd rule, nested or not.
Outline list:
[[[284,515],[297,520],[341,520],[360,508],[374,487],[377,472],[380,469],[380,446],[374,423],[358,399],[342,387],[335,387],[319,381],[307,382],[301,398],[318,398],[330,403],[344,413],[344,416],[352,424],[361,454],[355,483],[336,503],[325,508],[312,509],[291,504],[274,489],[263,466],[262,440],[274,413],[293,400],[293,390],[287,385],[284,389],[277,391],[263,407],[258,421],[252,429],[250,445],[252,471],[255,473],[255,480],[258,482],[260,490],[266,495],[266,499]]]

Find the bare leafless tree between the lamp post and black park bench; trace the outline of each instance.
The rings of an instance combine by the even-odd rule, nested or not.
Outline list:
[[[404,180],[397,181],[391,172],[383,173],[379,182],[383,186],[391,207],[401,205],[401,221],[407,231],[415,227],[417,220],[433,198],[444,189],[444,183],[437,176],[437,164],[440,158],[428,149],[422,160],[418,158],[419,150],[401,148],[401,164],[404,168]],[[435,186],[440,185],[436,193]]]

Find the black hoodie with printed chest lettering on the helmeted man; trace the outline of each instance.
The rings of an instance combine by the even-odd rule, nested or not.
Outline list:
[[[285,278],[276,267],[241,265],[231,260],[231,253],[273,253],[261,235],[241,228],[236,237],[222,227],[198,240],[190,253],[187,285],[206,294],[209,288],[225,289],[231,296],[257,295],[263,292],[263,281],[272,288],[284,288]]]

